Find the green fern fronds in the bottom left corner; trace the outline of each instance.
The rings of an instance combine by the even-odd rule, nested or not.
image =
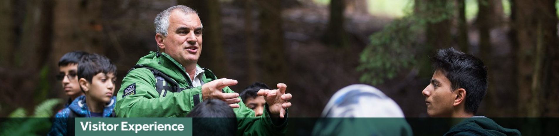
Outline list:
[[[27,116],[23,108],[13,111],[10,119],[0,124],[0,135],[37,135],[48,132],[51,126],[50,117],[53,108],[61,102],[60,99],[48,99],[35,107],[34,115]]]

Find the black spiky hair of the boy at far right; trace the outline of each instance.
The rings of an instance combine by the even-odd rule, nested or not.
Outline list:
[[[443,72],[451,82],[452,90],[466,90],[465,110],[476,114],[481,100],[487,93],[487,68],[481,59],[448,48],[438,50],[430,60],[435,71]]]

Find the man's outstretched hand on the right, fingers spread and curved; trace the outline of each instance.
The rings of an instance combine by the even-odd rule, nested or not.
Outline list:
[[[277,87],[276,90],[262,89],[258,91],[258,96],[264,96],[272,117],[284,118],[285,109],[291,107],[291,102],[287,102],[291,99],[291,93],[285,93],[287,85],[283,83],[278,83]]]

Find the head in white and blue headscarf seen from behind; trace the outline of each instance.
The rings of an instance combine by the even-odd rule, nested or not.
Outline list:
[[[350,85],[334,93],[322,117],[312,135],[412,135],[400,106],[369,85]]]

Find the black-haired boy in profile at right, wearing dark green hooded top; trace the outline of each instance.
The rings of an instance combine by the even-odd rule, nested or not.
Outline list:
[[[431,117],[467,118],[444,135],[520,135],[485,116],[474,116],[487,91],[487,68],[479,58],[454,50],[441,49],[430,57],[435,69],[422,91]]]

